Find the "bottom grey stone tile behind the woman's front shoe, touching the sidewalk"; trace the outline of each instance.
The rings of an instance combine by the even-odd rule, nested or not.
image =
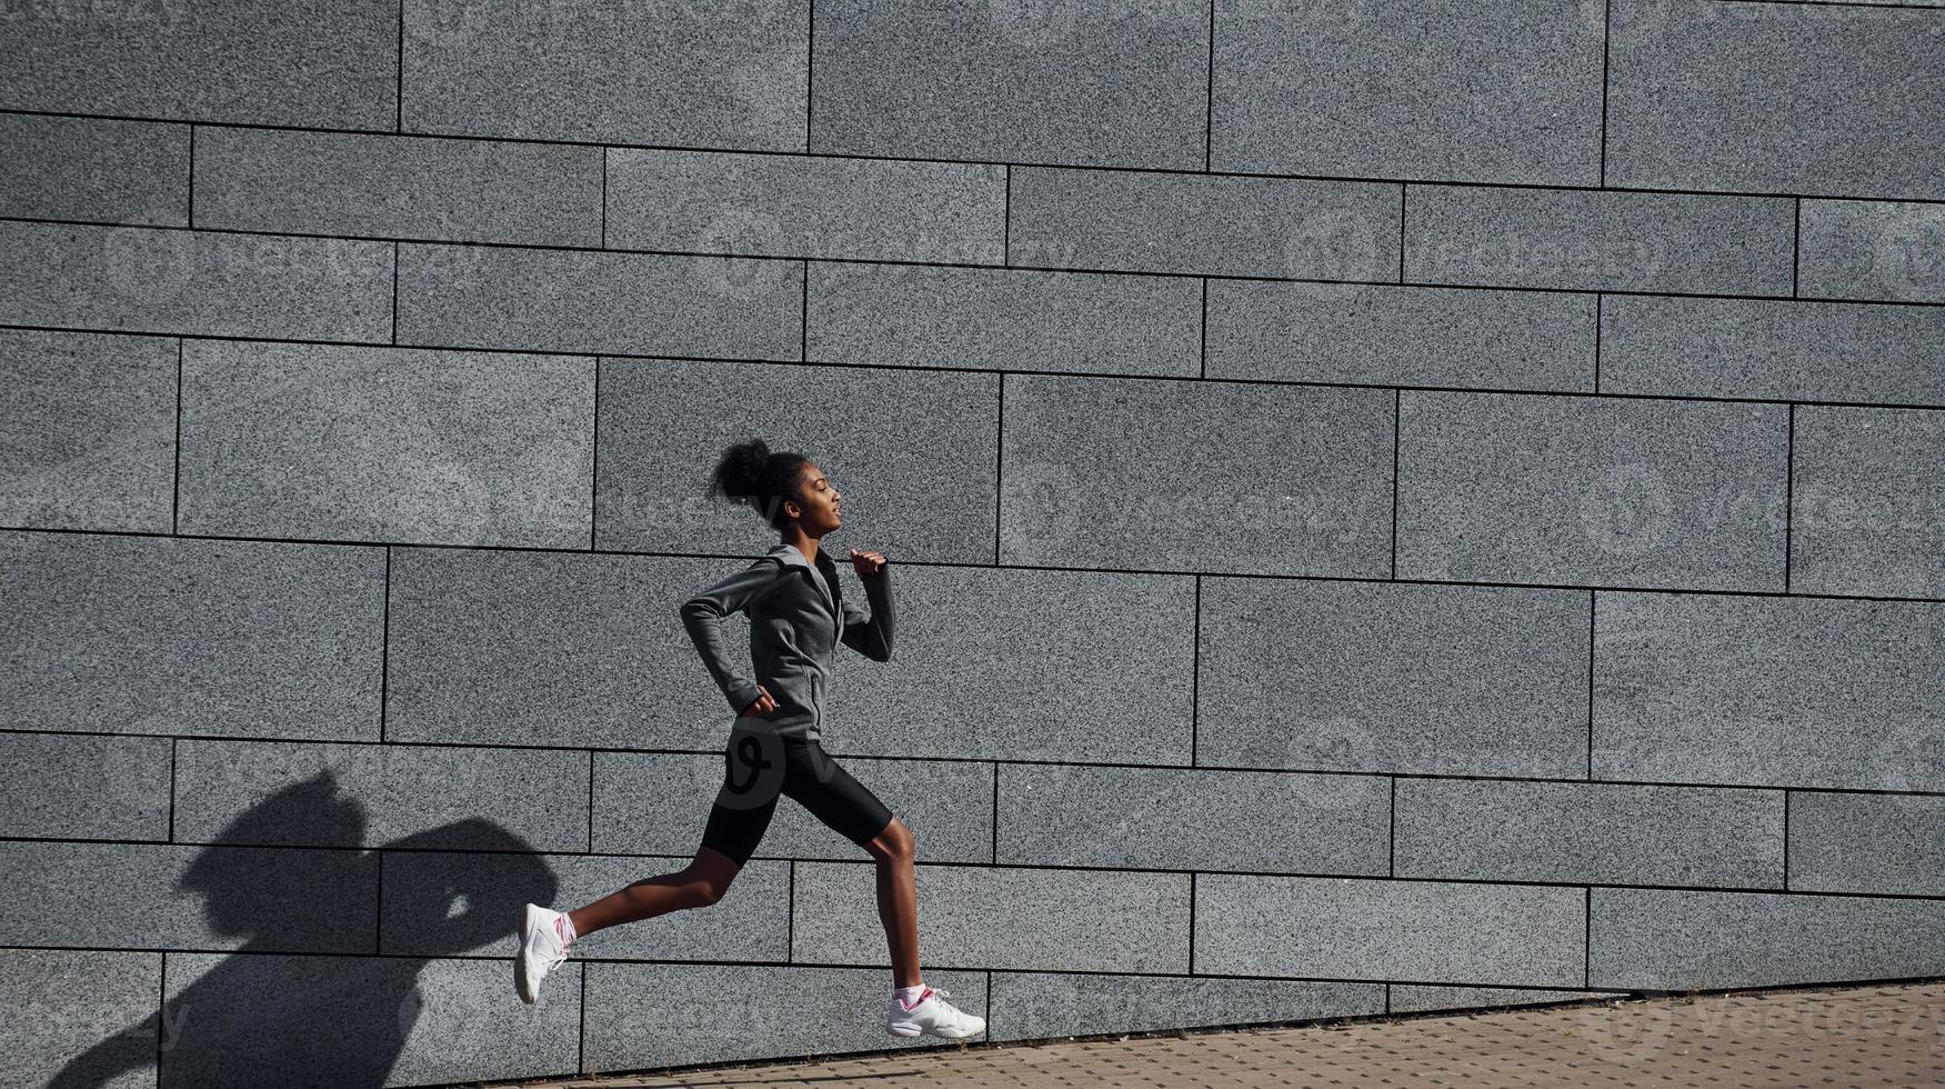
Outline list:
[[[572,963],[572,961],[570,961]],[[986,972],[926,965],[926,984],[986,1015]],[[545,998],[543,998],[545,1001]],[[724,1019],[724,1007],[741,1011]],[[585,1070],[644,1070],[809,1054],[965,1050],[885,1033],[885,968],[788,965],[587,965]],[[974,1036],[969,1042],[978,1042]]]

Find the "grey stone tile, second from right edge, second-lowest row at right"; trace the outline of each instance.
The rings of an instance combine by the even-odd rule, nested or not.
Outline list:
[[[1784,887],[1784,791],[1400,778],[1398,877]]]

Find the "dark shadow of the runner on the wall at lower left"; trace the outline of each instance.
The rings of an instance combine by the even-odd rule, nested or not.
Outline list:
[[[233,846],[300,840],[358,848],[364,832],[364,805],[340,797],[329,770],[237,817],[216,838],[231,846],[206,848],[177,889],[202,893],[210,930],[243,937],[243,945],[159,1013],[80,1054],[49,1089],[107,1085],[158,1056],[163,1089],[385,1085],[424,1007],[418,974],[426,959],[515,933],[519,904],[552,902],[556,879],[531,844],[484,819],[393,840],[379,850],[521,854],[500,856],[490,867],[387,863],[383,928],[387,935],[410,933],[412,955],[373,957],[379,924],[364,891],[377,889],[375,852]],[[348,955],[278,955],[321,945]],[[185,955],[169,957],[171,980],[196,968]],[[512,982],[506,994],[513,1001]]]

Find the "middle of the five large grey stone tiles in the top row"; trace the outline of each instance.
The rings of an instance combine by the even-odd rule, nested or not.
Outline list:
[[[1202,0],[827,0],[815,18],[817,152],[1202,169]]]

